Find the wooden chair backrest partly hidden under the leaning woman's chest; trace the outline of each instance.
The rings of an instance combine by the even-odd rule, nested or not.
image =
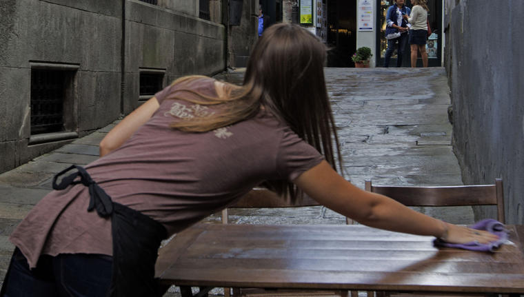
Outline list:
[[[254,188],[228,208],[303,207],[317,205],[320,204],[307,195],[304,195],[302,201],[299,201],[299,203],[290,204],[288,201],[285,201],[285,199],[270,190]],[[228,223],[227,208],[222,211],[222,223]]]

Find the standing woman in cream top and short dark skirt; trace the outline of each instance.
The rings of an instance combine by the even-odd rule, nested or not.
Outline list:
[[[425,45],[427,41],[427,0],[412,0],[413,8],[410,17],[407,19],[411,23],[410,28],[410,48],[411,48],[411,67],[416,67],[416,59],[419,52],[422,57],[422,65],[427,67],[427,52]]]

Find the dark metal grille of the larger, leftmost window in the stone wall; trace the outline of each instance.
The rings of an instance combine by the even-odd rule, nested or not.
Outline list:
[[[63,130],[66,72],[31,70],[31,134]]]

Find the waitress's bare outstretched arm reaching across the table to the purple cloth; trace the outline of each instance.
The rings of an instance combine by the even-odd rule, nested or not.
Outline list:
[[[344,216],[370,227],[425,236],[436,236],[450,243],[496,240],[489,232],[472,232],[415,212],[391,198],[355,187],[325,161],[304,172],[294,183],[316,201]],[[477,235],[479,234],[479,235]]]

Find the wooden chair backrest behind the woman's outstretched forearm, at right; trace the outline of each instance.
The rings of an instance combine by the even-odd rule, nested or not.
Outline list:
[[[497,220],[505,223],[501,178],[496,178],[494,185],[443,187],[385,186],[365,181],[365,190],[383,194],[407,206],[496,205]]]

